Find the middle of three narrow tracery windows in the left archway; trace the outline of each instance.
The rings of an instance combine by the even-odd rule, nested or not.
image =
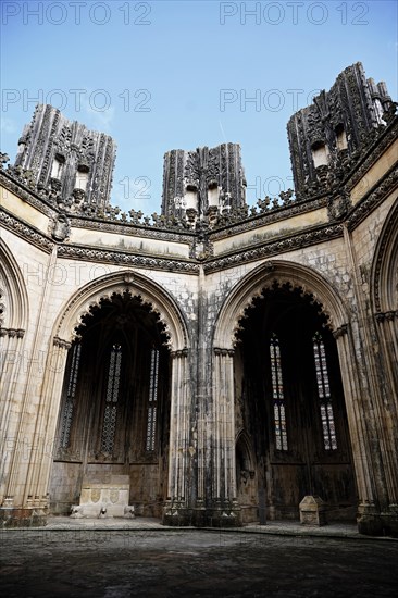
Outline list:
[[[101,434],[101,452],[108,454],[112,453],[115,440],[121,366],[122,346],[115,344],[112,346],[109,360],[105,408]]]

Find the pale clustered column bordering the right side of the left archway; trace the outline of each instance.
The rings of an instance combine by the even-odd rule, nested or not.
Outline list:
[[[163,511],[165,525],[187,525],[191,521],[189,470],[195,448],[189,444],[190,397],[187,357],[187,349],[172,352],[167,500]]]

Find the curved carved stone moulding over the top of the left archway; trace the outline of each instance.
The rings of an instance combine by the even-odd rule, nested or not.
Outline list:
[[[103,299],[126,292],[139,298],[158,314],[171,351],[183,350],[189,346],[186,321],[175,300],[158,283],[132,271],[107,274],[76,291],[55,322],[53,337],[71,342],[76,337],[82,319],[90,313],[95,306],[99,306]]]

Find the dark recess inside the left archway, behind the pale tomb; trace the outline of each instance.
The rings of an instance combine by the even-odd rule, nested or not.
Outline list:
[[[127,476],[136,511],[161,516],[166,499],[170,372],[164,323],[129,289],[91,306],[69,350],[50,497],[78,502],[84,479]]]

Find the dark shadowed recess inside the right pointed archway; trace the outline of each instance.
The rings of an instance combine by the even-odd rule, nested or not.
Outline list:
[[[357,493],[336,340],[313,295],[274,279],[246,308],[234,356],[236,422],[254,447],[270,519],[298,519],[307,495],[355,520]],[[247,515],[249,516],[249,514]]]

